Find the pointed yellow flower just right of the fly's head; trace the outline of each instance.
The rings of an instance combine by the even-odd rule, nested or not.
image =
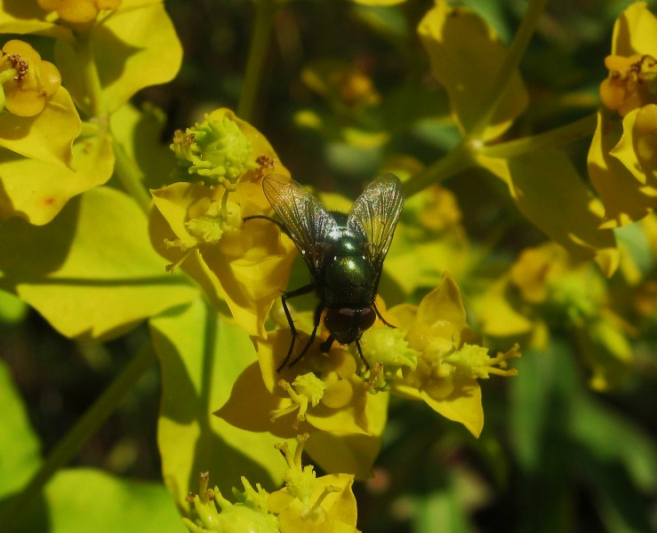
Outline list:
[[[414,369],[401,369],[393,394],[424,401],[478,436],[484,426],[484,411],[477,378],[515,376],[516,370],[506,370],[506,361],[520,356],[517,346],[491,357],[487,348],[475,344],[461,291],[449,276],[422,298],[420,306],[397,306],[390,313],[397,316],[408,345],[420,353]]]

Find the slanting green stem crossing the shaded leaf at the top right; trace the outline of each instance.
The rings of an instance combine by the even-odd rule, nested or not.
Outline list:
[[[525,17],[520,23],[513,43],[509,48],[504,62],[497,75],[493,78],[493,84],[489,87],[486,98],[481,102],[481,114],[477,123],[469,131],[471,139],[479,139],[485,128],[491,123],[495,111],[500,107],[501,101],[506,98],[506,91],[513,79],[520,61],[525,55],[527,45],[532,39],[533,32],[541,19],[548,0],[531,0],[525,12]]]

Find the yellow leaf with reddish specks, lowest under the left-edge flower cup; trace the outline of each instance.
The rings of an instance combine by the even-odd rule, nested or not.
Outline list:
[[[114,169],[111,139],[76,139],[73,167],[76,171],[0,150],[0,219],[47,224],[73,196],[105,183]]]

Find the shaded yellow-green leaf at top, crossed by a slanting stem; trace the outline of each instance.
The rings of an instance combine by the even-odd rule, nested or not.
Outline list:
[[[507,50],[493,28],[465,7],[450,7],[438,0],[421,20],[418,33],[429,54],[431,72],[449,95],[453,117],[468,134],[483,111],[493,78]],[[525,84],[518,72],[482,139],[494,139],[509,128],[527,106]]]

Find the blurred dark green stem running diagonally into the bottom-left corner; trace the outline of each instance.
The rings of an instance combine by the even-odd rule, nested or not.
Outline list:
[[[12,525],[20,517],[20,513],[34,502],[36,495],[44,487],[44,484],[51,479],[52,474],[56,473],[62,466],[67,465],[73,457],[76,457],[84,443],[105,423],[126,394],[132,391],[137,381],[144,375],[146,370],[153,366],[154,362],[156,362],[156,355],[153,348],[148,344],[125,366],[112,384],[100,395],[100,398],[93,402],[92,407],[84,413],[82,418],[77,420],[76,425],[57,443],[57,446],[46,458],[45,463],[25,488],[20,491],[20,494],[16,495],[4,507],[3,512],[0,513],[0,524],[3,524],[4,529],[12,529]]]

